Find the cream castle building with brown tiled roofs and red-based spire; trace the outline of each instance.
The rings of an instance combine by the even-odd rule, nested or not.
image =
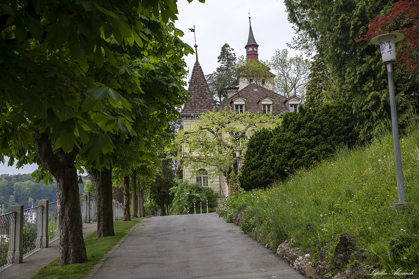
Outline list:
[[[253,36],[250,17],[249,36],[245,48],[248,61],[253,59],[253,61],[259,62],[259,45],[256,43]],[[202,67],[198,61],[197,45],[195,45],[195,50],[197,59],[191,73],[188,88],[191,95],[188,97],[189,102],[184,105],[184,108],[181,110],[180,117],[178,118],[178,123],[184,131],[191,128],[191,125],[193,125],[195,120],[199,120],[199,115],[212,110],[231,109],[236,113],[244,113],[247,111],[250,113],[264,113],[272,115],[280,115],[294,110],[298,111],[300,98],[296,96],[287,98],[284,95],[274,92],[273,79],[275,75],[269,72],[269,68],[266,66],[264,66],[266,69],[263,69],[263,71],[267,73],[267,80],[264,82],[265,87],[253,82],[251,72],[243,70],[239,87],[228,87],[227,99],[222,101],[219,105],[216,105],[212,98],[212,94],[207,84],[207,80],[205,79]],[[220,174],[215,179],[209,181],[209,179],[207,179],[207,171],[208,169],[199,169],[198,175],[194,176],[192,175],[192,170],[189,167],[185,167],[181,170],[182,177],[190,183],[197,182],[204,187],[212,188],[214,192],[219,193],[220,199],[228,197],[229,193],[225,177]]]

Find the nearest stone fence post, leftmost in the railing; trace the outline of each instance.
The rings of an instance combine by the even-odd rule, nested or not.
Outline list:
[[[14,253],[15,253],[15,264],[21,264],[23,261],[23,205],[12,205],[10,206],[10,213],[16,212],[16,225],[10,226],[10,236],[15,235]],[[9,243],[9,256],[13,259],[13,244]]]

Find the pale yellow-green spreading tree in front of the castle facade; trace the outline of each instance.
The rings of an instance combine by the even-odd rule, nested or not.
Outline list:
[[[242,149],[244,154],[248,138],[254,131],[274,128],[279,123],[279,115],[235,113],[233,110],[204,113],[176,134],[177,159],[181,162],[178,167],[189,167],[193,176],[205,168],[209,180],[222,173],[229,195],[233,195],[237,182],[234,150]]]

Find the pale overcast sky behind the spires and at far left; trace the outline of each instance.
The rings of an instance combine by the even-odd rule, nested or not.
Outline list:
[[[195,45],[194,33],[188,28],[195,25],[198,60],[204,74],[215,72],[219,66],[217,56],[225,43],[234,49],[237,57],[246,55],[249,12],[260,60],[269,60],[275,50],[286,49],[294,36],[282,0],[206,0],[205,3],[193,0],[190,4],[187,0],[179,0],[178,11],[179,20],[175,26],[185,33],[182,41],[192,47]],[[290,56],[300,54],[288,50]],[[186,56],[185,61],[192,72],[195,55]],[[0,163],[0,174],[24,174],[37,169],[35,165],[21,169],[7,167],[7,161],[5,165]]]

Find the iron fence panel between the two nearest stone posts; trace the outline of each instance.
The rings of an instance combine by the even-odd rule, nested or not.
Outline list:
[[[23,210],[23,256],[41,248],[42,245],[42,207]]]

